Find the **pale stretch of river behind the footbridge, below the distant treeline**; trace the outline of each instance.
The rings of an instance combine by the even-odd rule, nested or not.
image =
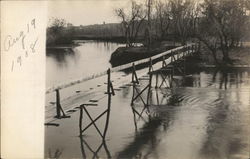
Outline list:
[[[124,44],[79,41],[73,51],[51,51],[46,56],[46,86],[51,87],[70,80],[102,72],[111,67],[111,53]]]

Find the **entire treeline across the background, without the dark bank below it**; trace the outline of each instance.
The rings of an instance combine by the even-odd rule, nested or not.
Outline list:
[[[120,23],[73,26],[53,19],[47,29],[47,45],[68,43],[72,39],[119,40],[133,47],[142,42],[147,48],[165,40],[199,41],[217,62],[217,52],[230,62],[229,51],[249,37],[250,0],[145,0],[131,1],[116,8]]]

